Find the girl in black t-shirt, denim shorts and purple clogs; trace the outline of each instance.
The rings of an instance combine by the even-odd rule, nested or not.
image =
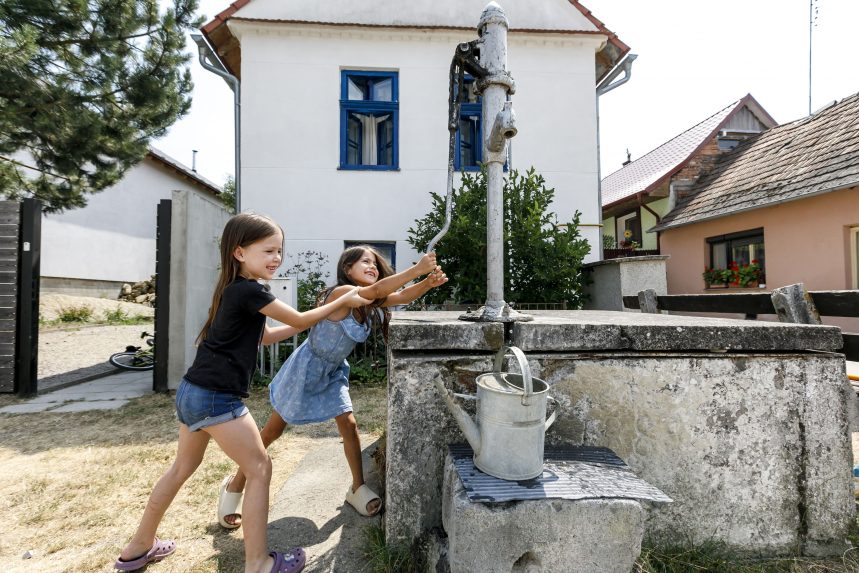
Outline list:
[[[221,273],[209,317],[198,338],[194,363],[176,392],[179,447],[143,512],[134,537],[114,565],[135,571],[171,555],[176,544],[155,537],[158,524],[182,484],[194,473],[209,438],[247,475],[244,498],[245,573],[297,573],[304,568],[301,548],[268,551],[268,494],[271,460],[256,423],[242,402],[248,396],[259,344],[272,344],[296,329],[313,326],[333,312],[369,304],[357,288],[307,312],[277,300],[258,282],[269,280],[283,256],[283,231],[271,219],[242,213],[232,217],[221,237]],[[268,327],[270,316],[286,326]]]

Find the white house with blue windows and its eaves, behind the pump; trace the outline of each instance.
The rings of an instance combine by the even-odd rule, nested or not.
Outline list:
[[[400,268],[416,260],[407,230],[446,189],[451,59],[485,5],[238,0],[204,26],[241,81],[242,208],[284,227],[287,255],[320,251],[333,270],[344,245],[370,242]],[[598,246],[595,86],[629,48],[574,0],[502,8],[519,128],[509,164],[543,174],[554,211],[581,211]],[[480,159],[476,107],[463,106],[458,169]]]

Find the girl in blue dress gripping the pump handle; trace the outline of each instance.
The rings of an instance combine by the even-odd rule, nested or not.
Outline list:
[[[406,283],[427,277],[403,290]],[[435,253],[428,253],[408,270],[394,274],[388,262],[375,249],[362,245],[346,249],[337,263],[337,284],[323,291],[318,304],[331,303],[358,288],[369,305],[333,312],[327,320],[310,329],[305,340],[293,352],[269,386],[274,411],[260,431],[268,447],[279,438],[287,424],[310,424],[334,418],[343,438],[343,450],[352,472],[352,487],[346,501],[358,513],[376,515],[382,500],[364,483],[361,463],[361,441],[358,424],[352,414],[349,398],[349,363],[346,357],[359,342],[364,342],[372,328],[387,336],[390,311],[387,307],[408,304],[431,288],[443,285],[447,277],[436,266]],[[241,525],[241,492],[245,476],[241,468],[221,484],[218,522],[228,529]]]

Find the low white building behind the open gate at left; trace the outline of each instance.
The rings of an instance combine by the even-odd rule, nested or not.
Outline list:
[[[43,215],[42,292],[116,298],[123,283],[155,274],[157,206],[174,190],[210,198],[221,192],[150,147],[119,183],[90,195],[86,207]]]

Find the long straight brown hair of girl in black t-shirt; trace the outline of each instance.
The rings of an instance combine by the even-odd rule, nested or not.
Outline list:
[[[239,213],[227,221],[224,226],[224,233],[221,235],[221,274],[218,276],[215,292],[212,294],[209,318],[206,319],[206,324],[203,325],[200,334],[197,335],[198,344],[205,340],[209,333],[209,327],[212,326],[218,307],[221,306],[224,289],[239,276],[242,266],[239,260],[233,256],[233,252],[237,247],[247,247],[278,233],[283,237],[283,229],[265,215]]]

